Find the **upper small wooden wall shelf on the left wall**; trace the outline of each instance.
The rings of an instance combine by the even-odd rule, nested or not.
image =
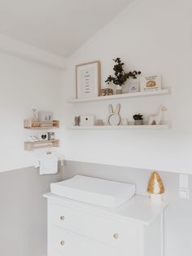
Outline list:
[[[45,130],[59,128],[59,120],[54,121],[32,121],[29,119],[24,120],[24,129],[31,130]]]

